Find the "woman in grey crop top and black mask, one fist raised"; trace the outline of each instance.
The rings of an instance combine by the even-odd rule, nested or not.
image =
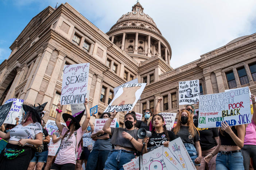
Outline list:
[[[112,135],[111,142],[115,145],[115,149],[112,149],[108,154],[108,159],[105,163],[105,169],[119,170],[123,169],[123,165],[135,158],[135,151],[142,149],[142,140],[137,136],[137,130],[135,129],[136,114],[135,112],[127,113],[124,116],[123,128],[112,128],[110,124],[116,116],[116,110],[110,113],[110,117],[106,121],[103,130]]]

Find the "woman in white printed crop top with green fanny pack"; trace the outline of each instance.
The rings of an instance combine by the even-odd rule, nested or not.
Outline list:
[[[0,154],[1,170],[27,170],[30,160],[34,157],[33,145],[42,145],[43,130],[38,110],[23,105],[24,121],[12,128],[8,133],[0,131],[0,137],[9,139]]]

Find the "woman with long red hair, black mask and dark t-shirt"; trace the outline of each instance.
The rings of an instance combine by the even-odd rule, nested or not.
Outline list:
[[[177,137],[181,137],[190,158],[196,169],[198,169],[202,159],[199,132],[193,123],[193,117],[189,111],[182,110],[178,114],[177,125],[172,128],[172,131]]]

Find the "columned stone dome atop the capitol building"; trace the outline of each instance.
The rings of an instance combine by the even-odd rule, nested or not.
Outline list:
[[[110,40],[138,63],[159,55],[170,65],[171,46],[137,2],[106,33]],[[160,50],[159,50],[160,49]]]

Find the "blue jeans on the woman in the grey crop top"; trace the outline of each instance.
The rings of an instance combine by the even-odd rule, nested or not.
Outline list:
[[[112,149],[108,154],[104,170],[123,170],[123,165],[133,158],[135,158],[135,155],[131,151]]]

